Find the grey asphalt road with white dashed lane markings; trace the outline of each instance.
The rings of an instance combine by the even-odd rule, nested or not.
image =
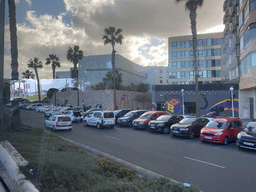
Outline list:
[[[44,128],[44,114],[21,110],[23,123]],[[137,166],[197,185],[205,192],[256,191],[256,154],[227,146],[202,143],[132,128],[96,129],[74,123],[59,135]]]

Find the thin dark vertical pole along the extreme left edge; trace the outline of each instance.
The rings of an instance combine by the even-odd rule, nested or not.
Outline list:
[[[4,86],[4,16],[5,0],[0,0],[0,127],[3,123],[3,86]]]

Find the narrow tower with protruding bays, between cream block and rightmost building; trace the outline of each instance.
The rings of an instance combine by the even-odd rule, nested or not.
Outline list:
[[[238,83],[240,73],[239,59],[239,0],[225,0],[223,4],[225,25],[222,52],[223,83]]]

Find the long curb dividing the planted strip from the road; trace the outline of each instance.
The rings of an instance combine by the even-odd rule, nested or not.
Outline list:
[[[157,173],[155,173],[155,172],[149,171],[149,170],[147,170],[147,169],[144,169],[144,168],[142,168],[142,167],[139,167],[139,166],[137,166],[137,165],[134,165],[134,164],[132,164],[132,163],[129,163],[129,162],[127,162],[127,161],[124,161],[124,160],[122,160],[122,159],[119,159],[119,158],[117,158],[117,157],[114,157],[114,156],[112,156],[112,155],[109,155],[109,154],[107,154],[107,153],[101,152],[101,151],[99,151],[99,150],[93,149],[93,148],[91,148],[91,147],[88,147],[88,146],[83,145],[83,144],[81,144],[81,143],[78,143],[78,142],[76,142],[76,141],[72,141],[72,140],[67,139],[67,138],[65,138],[65,137],[62,137],[62,136],[60,136],[60,137],[61,137],[63,140],[68,141],[69,143],[80,147],[82,150],[84,150],[84,151],[86,151],[86,152],[88,152],[88,153],[90,153],[90,154],[92,154],[92,155],[95,155],[95,156],[98,156],[98,157],[105,157],[105,158],[107,158],[107,159],[109,159],[109,160],[111,160],[111,161],[113,161],[113,162],[115,162],[115,163],[117,163],[117,164],[120,164],[120,165],[122,165],[122,166],[124,166],[124,167],[126,167],[126,168],[129,168],[129,169],[132,169],[132,170],[134,170],[137,174],[139,174],[139,175],[141,175],[141,176],[143,176],[143,177],[148,177],[148,178],[161,178],[161,177],[162,177],[162,178],[169,179],[171,182],[174,182],[174,183],[182,184],[182,185],[183,185],[183,183],[181,183],[181,182],[179,182],[179,181],[176,181],[176,180],[174,180],[174,179],[171,179],[171,178],[169,178],[169,177],[166,177],[166,176],[157,174]]]

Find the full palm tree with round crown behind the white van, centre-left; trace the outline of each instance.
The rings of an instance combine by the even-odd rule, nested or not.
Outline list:
[[[114,110],[116,109],[116,81],[115,81],[115,43],[122,44],[123,36],[120,34],[122,29],[115,29],[115,27],[109,27],[105,29],[104,45],[111,43],[112,45],[112,71],[113,71],[113,85],[114,85]]]

